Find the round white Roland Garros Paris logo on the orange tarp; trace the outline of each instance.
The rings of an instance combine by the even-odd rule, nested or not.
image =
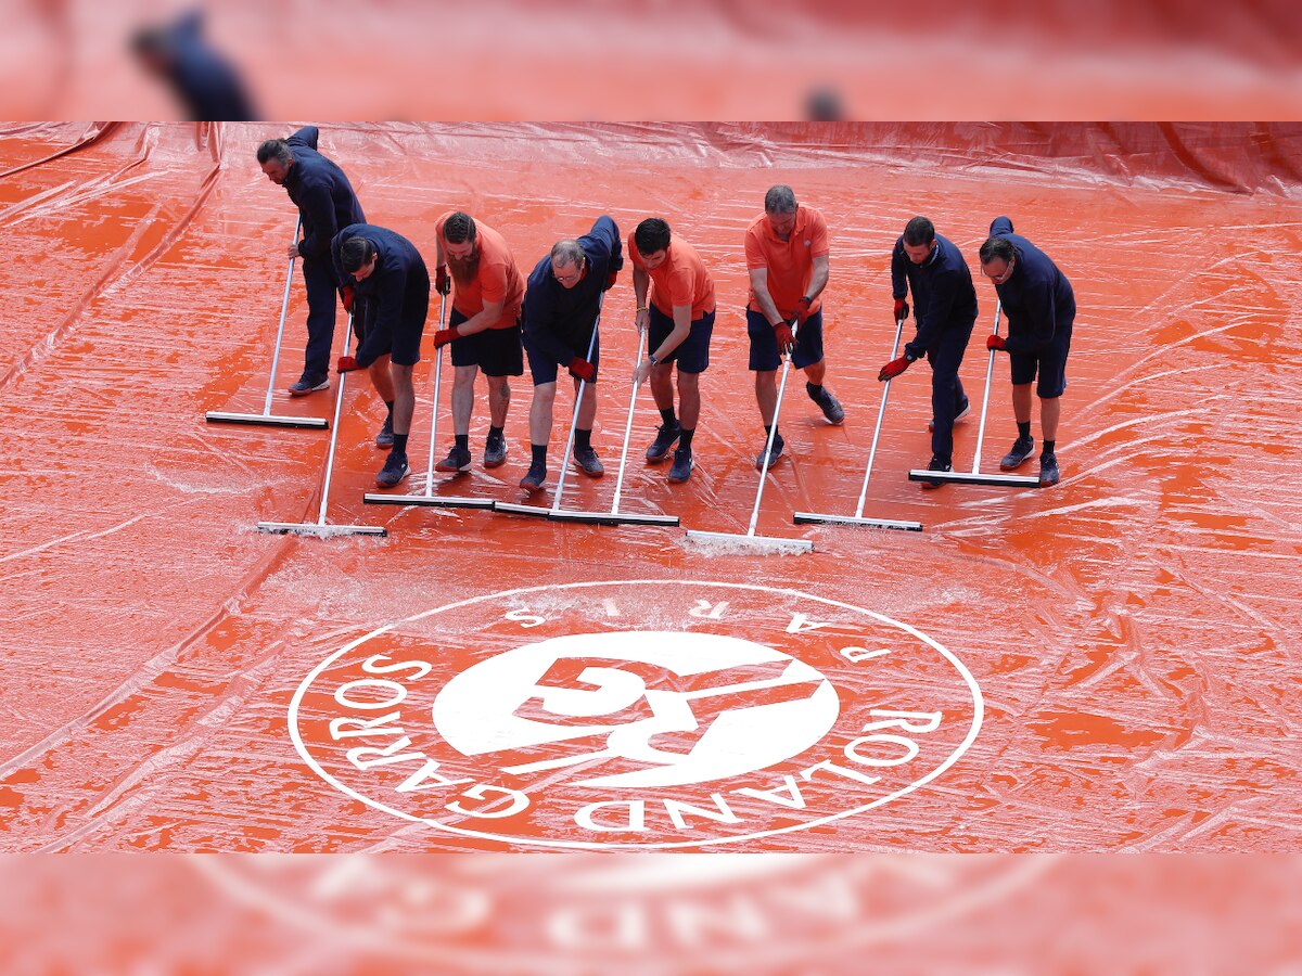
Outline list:
[[[907,623],[684,580],[427,610],[331,655],[289,709],[309,765],[396,817],[624,850],[789,850],[811,828],[854,847],[870,811],[943,774],[980,720],[969,670]]]

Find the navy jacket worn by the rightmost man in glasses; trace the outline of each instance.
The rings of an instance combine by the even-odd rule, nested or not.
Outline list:
[[[1003,237],[1017,251],[1017,264],[1003,285],[995,285],[1008,319],[1004,349],[1038,353],[1047,347],[1075,318],[1075,294],[1066,275],[1039,247],[1013,233],[1013,221],[995,217],[991,237]]]

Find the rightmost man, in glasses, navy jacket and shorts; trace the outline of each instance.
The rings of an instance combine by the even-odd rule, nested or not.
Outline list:
[[[1039,247],[1013,233],[1013,221],[995,217],[980,246],[980,272],[995,285],[1008,319],[1008,337],[990,336],[987,349],[1008,353],[1013,375],[1017,440],[999,462],[1013,471],[1035,452],[1031,437],[1031,383],[1040,398],[1040,487],[1059,481],[1057,426],[1066,390],[1066,357],[1075,321],[1075,293],[1066,275]],[[1036,380],[1036,376],[1039,377]]]

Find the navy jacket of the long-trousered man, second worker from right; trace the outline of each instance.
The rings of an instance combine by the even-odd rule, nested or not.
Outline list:
[[[918,334],[904,347],[910,359],[921,359],[950,329],[971,333],[973,323],[976,321],[973,273],[962,251],[940,234],[936,234],[936,249],[922,264],[909,260],[904,237],[896,241],[891,254],[891,290],[896,298],[913,293]]]

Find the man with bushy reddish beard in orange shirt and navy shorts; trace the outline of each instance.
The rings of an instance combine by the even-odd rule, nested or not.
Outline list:
[[[488,439],[484,467],[506,459],[506,410],[510,406],[508,376],[525,372],[519,340],[519,308],[525,280],[510,249],[492,228],[469,213],[444,213],[434,228],[437,246],[435,288],[448,294],[456,282],[448,328],[434,333],[434,347],[452,344],[452,432],[454,444],[436,471],[470,470],[470,414],[475,401],[475,376],[488,377]],[[450,269],[450,281],[448,271]]]

